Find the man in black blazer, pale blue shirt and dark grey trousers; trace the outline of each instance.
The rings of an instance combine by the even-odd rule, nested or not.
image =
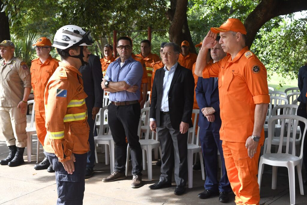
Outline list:
[[[194,78],[192,71],[178,64],[180,49],[175,43],[163,48],[163,69],[156,71],[151,95],[150,129],[158,132],[161,144],[161,175],[150,189],[169,187],[175,165],[174,194],[185,191],[188,178],[188,129],[192,127]],[[174,164],[175,163],[175,164]]]

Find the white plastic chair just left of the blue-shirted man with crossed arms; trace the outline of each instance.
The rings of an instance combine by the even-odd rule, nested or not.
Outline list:
[[[111,135],[111,130],[109,129],[109,132],[106,135],[104,133],[104,128],[103,128],[107,109],[108,109],[108,105],[100,109],[100,119],[101,119],[100,129],[99,129],[98,135],[94,136],[94,141],[95,141],[95,144],[109,145],[108,147],[105,146],[105,160],[106,160],[106,165],[108,164],[108,162],[110,162],[111,173],[112,173],[114,171],[114,165],[115,165],[115,153],[114,153],[115,143]],[[110,153],[110,158],[108,156],[108,153]],[[98,163],[96,146],[95,146],[95,158],[96,158],[96,163]]]

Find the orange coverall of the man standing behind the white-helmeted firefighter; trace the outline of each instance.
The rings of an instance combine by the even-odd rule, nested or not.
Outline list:
[[[42,63],[39,58],[32,60],[31,64],[31,85],[34,93],[35,125],[37,138],[44,147],[44,140],[47,134],[45,128],[45,105],[44,92],[49,78],[59,66],[59,60],[51,55]]]

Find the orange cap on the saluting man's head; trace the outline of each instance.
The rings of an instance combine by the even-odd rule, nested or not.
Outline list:
[[[212,27],[210,30],[215,34],[225,31],[234,31],[246,35],[245,26],[237,18],[228,18],[227,21],[223,23],[220,27]]]

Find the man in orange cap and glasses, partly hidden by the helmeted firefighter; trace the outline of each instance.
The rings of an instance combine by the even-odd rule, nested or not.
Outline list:
[[[45,127],[44,92],[49,78],[59,66],[59,60],[51,57],[51,41],[48,38],[40,37],[33,46],[35,46],[38,56],[38,58],[32,60],[30,68],[35,101],[35,125],[37,138],[44,147],[44,140],[47,134]],[[48,172],[54,172],[47,156],[45,156],[41,163],[34,165],[34,169],[47,169]]]

